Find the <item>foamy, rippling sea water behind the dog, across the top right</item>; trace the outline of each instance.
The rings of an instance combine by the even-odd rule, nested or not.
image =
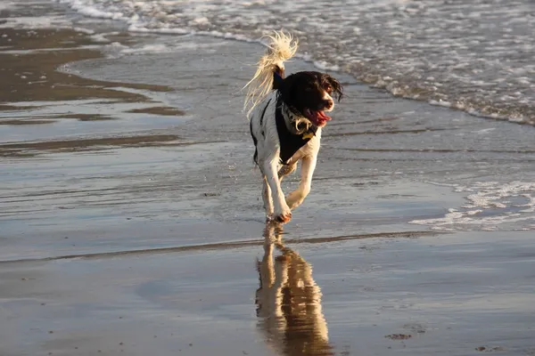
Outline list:
[[[286,28],[320,68],[395,95],[535,124],[535,5],[528,0],[61,2],[139,32],[257,40]]]

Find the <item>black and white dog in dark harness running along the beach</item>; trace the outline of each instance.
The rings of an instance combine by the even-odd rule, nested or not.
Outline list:
[[[333,110],[333,98],[342,99],[342,85],[316,71],[284,77],[284,61],[293,57],[297,42],[284,32],[268,38],[268,51],[245,85],[245,109],[249,109],[254,161],[264,179],[262,198],[268,220],[287,223],[292,219],[291,210],[309,194],[321,128],[331,119],[325,112]],[[284,197],[281,181],[295,170],[299,160],[299,187]]]

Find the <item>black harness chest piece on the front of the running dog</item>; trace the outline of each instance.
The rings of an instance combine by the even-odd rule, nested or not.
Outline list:
[[[280,142],[280,160],[286,165],[288,160],[300,150],[301,147],[307,144],[312,137],[317,133],[317,125],[309,125],[309,129],[300,134],[293,134],[286,125],[286,120],[284,120],[283,115],[283,100],[278,96],[276,100],[276,109],[275,109],[275,119],[276,119],[276,131],[279,136]]]

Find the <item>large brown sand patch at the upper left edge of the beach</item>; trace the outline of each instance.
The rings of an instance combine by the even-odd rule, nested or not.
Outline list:
[[[169,92],[165,85],[143,85],[105,82],[77,77],[56,70],[65,63],[102,58],[100,49],[77,48],[80,45],[98,44],[86,34],[73,29],[26,29],[4,28],[0,47],[27,53],[0,52],[0,98],[4,102],[17,101],[68,101],[86,98],[116,99],[122,101],[147,101],[143,95],[112,89],[133,89]],[[8,42],[8,39],[12,39]],[[35,51],[36,49],[61,51]],[[34,51],[29,51],[32,49]],[[5,107],[4,107],[5,109]]]

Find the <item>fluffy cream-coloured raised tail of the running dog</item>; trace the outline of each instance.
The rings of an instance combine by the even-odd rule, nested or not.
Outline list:
[[[283,31],[274,31],[269,38],[268,50],[260,58],[254,77],[243,86],[247,88],[247,95],[243,109],[247,110],[247,117],[252,109],[273,89],[273,80],[276,75],[284,78],[284,61],[288,61],[297,51],[297,40]]]

